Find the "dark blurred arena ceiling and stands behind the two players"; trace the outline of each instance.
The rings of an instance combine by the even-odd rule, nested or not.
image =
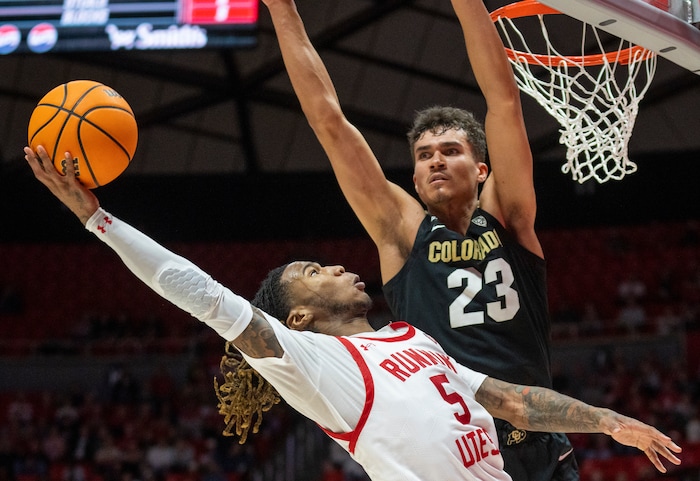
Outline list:
[[[486,3],[493,9],[506,2]],[[404,139],[412,112],[445,103],[483,114],[449,2],[298,4],[348,117],[368,136],[389,177],[412,191]],[[127,475],[158,481],[315,481],[331,479],[334,464],[346,462],[315,426],[283,408],[246,448],[222,438],[220,419],[211,412],[220,340],[130,277],[33,179],[22,158],[37,100],[68,80],[100,80],[131,102],[141,134],[125,174],[96,191],[106,209],[244,294],[255,289],[270,264],[291,255],[344,263],[368,280],[382,322],[376,254],[299,111],[264,7],[259,40],[255,49],[242,51],[0,58],[3,475],[63,481],[77,476],[77,464],[86,468],[88,481]],[[630,142],[639,169],[603,185],[579,185],[561,173],[558,126],[523,98],[535,156],[538,229],[549,258],[557,387],[643,417],[684,440],[697,424],[700,400],[700,246],[684,240],[686,229],[700,220],[699,85],[697,75],[659,60]],[[615,250],[620,239],[622,251]],[[664,268],[672,268],[679,281],[672,303],[660,298]],[[648,289],[648,324],[637,332],[617,323],[617,288],[629,273],[643,274]],[[19,304],[7,303],[11,297]],[[565,310],[578,309],[580,320],[591,301],[602,311],[596,332],[570,322]],[[657,320],[667,304],[684,317],[662,330]],[[77,332],[86,321],[102,323],[101,332]],[[165,394],[150,384],[161,367],[173,383]],[[121,379],[119,389],[109,379]],[[22,411],[11,406],[22,405],[25,397],[34,418],[18,421],[10,412]],[[155,409],[153,419],[141,417],[144,403]],[[54,416],[70,406],[80,407],[81,414],[68,429]],[[192,415],[193,406],[199,416]],[[102,421],[87,423],[88,407],[101,412]],[[158,443],[129,436],[132,431],[168,432],[172,446],[189,440],[196,456],[190,466],[155,473],[138,463],[137,469],[126,454],[111,464],[77,462],[66,454],[48,463],[46,473],[31,472],[35,455],[49,449],[44,441],[56,440],[56,431],[70,432],[71,442],[82,439],[75,431],[88,424],[96,432],[118,434],[122,453],[140,463],[145,461],[138,455],[145,458]],[[129,450],[132,438],[138,442]],[[645,470],[648,463],[600,438],[575,441],[585,461],[583,481],[600,473],[613,479],[620,472],[628,479],[654,479]],[[684,444],[686,467],[664,479],[698,479],[699,441]],[[108,445],[108,436],[93,444]],[[352,470],[342,466],[345,479]]]

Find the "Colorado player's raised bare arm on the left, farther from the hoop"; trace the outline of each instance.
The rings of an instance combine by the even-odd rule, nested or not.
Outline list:
[[[314,48],[293,0],[263,0],[302,110],[330,159],[345,198],[382,256],[407,253],[424,216],[420,203],[389,182],[362,134],[345,118],[330,75]],[[400,249],[396,249],[397,245]],[[386,247],[383,250],[383,247]],[[391,254],[391,255],[393,255]],[[403,265],[400,259],[398,268]],[[398,271],[398,268],[396,269]]]

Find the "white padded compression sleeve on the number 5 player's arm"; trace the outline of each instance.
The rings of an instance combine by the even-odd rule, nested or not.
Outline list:
[[[253,311],[247,300],[126,222],[100,208],[85,228],[111,247],[147,286],[224,339],[235,339],[248,326]]]

